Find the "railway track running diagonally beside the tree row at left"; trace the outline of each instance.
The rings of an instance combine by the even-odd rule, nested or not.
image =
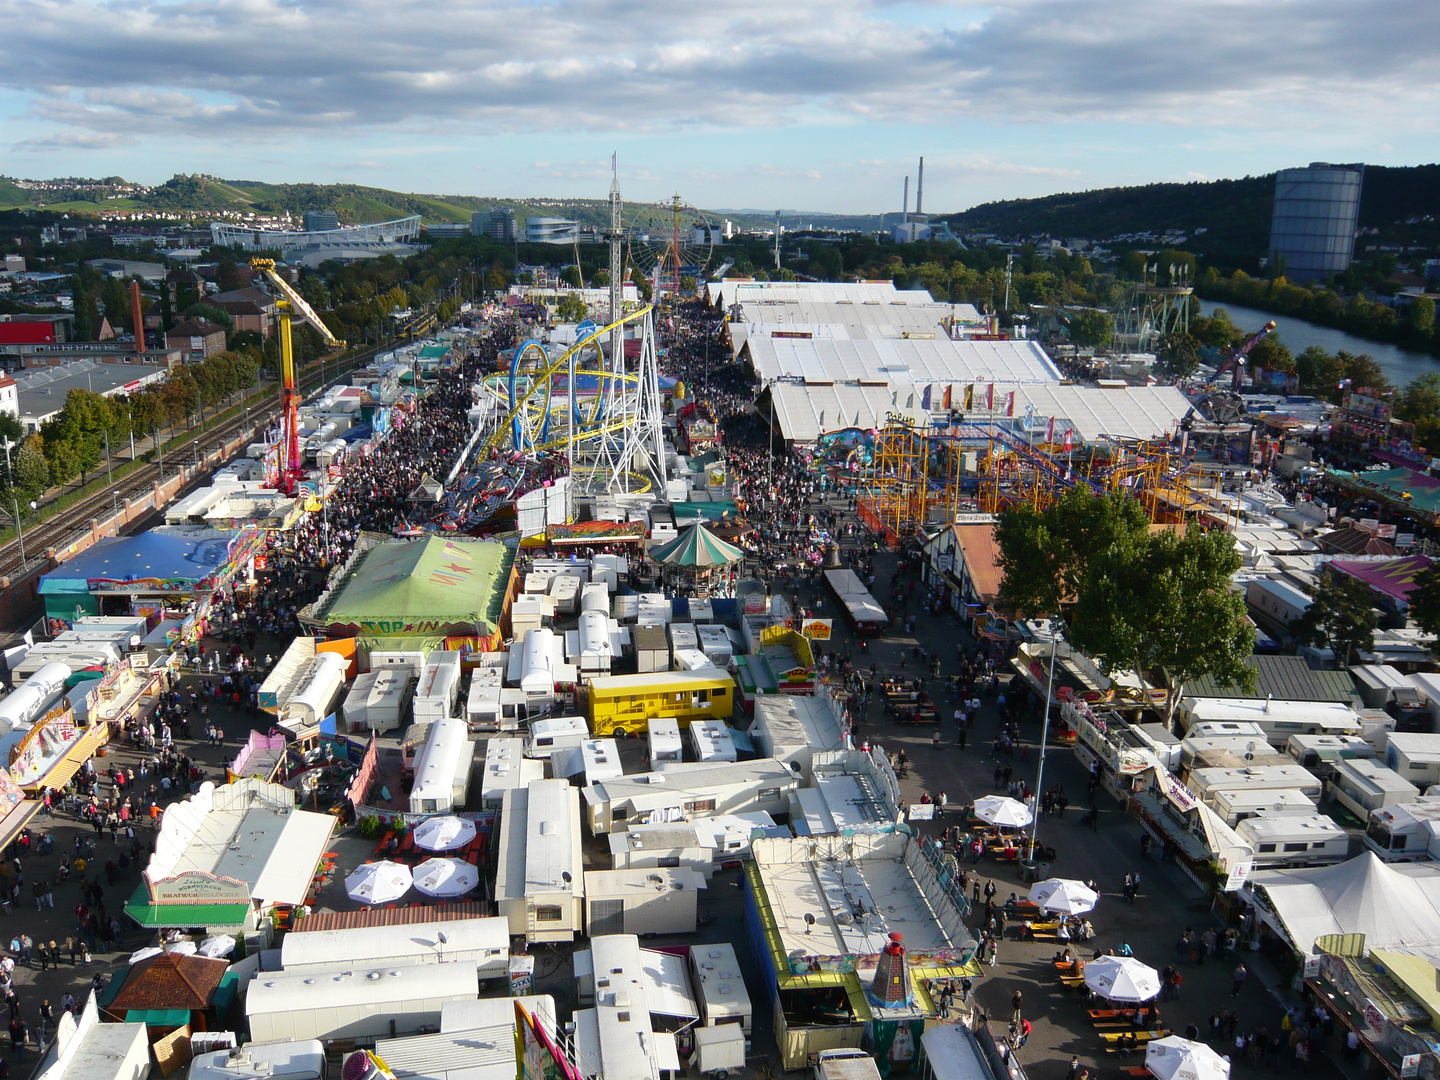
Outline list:
[[[333,383],[360,364],[367,363],[380,348],[392,346],[393,343],[376,346],[336,364],[327,363],[324,369],[308,372],[301,376],[300,389],[302,393],[310,393],[323,384]],[[220,446],[235,439],[240,432],[246,429],[262,431],[278,416],[279,396],[276,395],[271,406],[232,416],[220,426],[197,435],[192,439],[192,446],[202,448],[206,459],[209,459]],[[23,577],[29,567],[46,560],[45,552],[48,549],[63,549],[75,543],[79,537],[88,536],[91,520],[112,514],[132,495],[150,494],[156,484],[163,482],[166,477],[174,477],[176,472],[186,465],[194,464],[194,461],[196,452],[190,446],[186,446],[176,451],[173,458],[166,458],[163,462],[144,462],[124,478],[86,495],[53,517],[27,526],[22,537],[23,544],[22,540],[12,540],[0,547],[0,577]],[[22,546],[24,549],[24,559],[20,557]]]

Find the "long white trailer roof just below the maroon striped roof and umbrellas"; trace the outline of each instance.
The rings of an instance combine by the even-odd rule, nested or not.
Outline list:
[[[510,923],[498,917],[451,919],[291,932],[281,943],[279,962],[285,973],[325,971],[343,963],[462,963],[481,979],[500,979],[510,965]]]

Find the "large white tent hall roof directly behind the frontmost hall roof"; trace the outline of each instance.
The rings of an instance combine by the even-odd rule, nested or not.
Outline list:
[[[744,351],[765,382],[798,377],[812,383],[857,379],[887,383],[1048,383],[1060,372],[1035,341],[835,341],[750,337]]]

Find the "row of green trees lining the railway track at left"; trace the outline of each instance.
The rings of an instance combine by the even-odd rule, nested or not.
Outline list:
[[[105,461],[107,445],[118,452],[131,435],[145,438],[193,420],[203,422],[207,410],[222,408],[236,393],[252,387],[258,377],[259,357],[253,351],[228,351],[176,367],[166,382],[128,397],[71,390],[60,412],[24,439],[13,418],[0,416],[0,438],[13,446],[7,484],[24,501],[76,477],[84,481]]]

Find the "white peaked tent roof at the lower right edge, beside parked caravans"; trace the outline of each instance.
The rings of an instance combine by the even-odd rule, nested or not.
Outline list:
[[[1367,851],[1348,863],[1312,870],[1256,871],[1303,955],[1329,933],[1362,933],[1371,949],[1440,945],[1440,867],[1391,867]]]

